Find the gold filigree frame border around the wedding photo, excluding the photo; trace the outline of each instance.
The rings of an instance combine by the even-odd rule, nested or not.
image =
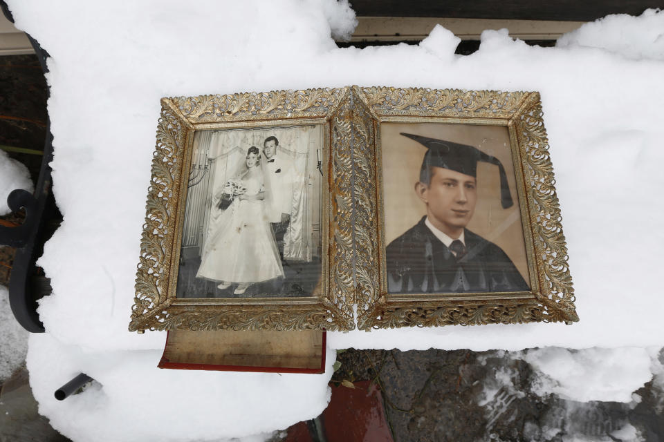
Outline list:
[[[161,100],[129,330],[355,327],[351,89],[172,97]],[[175,289],[196,131],[320,124],[324,128],[322,292],[307,298],[181,299]]]

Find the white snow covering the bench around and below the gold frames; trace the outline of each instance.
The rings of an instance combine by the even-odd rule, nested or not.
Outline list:
[[[310,419],[329,400],[333,351],[322,375],[159,370],[165,334],[127,332],[167,96],[349,84],[540,91],[580,323],[329,333],[329,349],[600,347],[542,349],[530,362],[565,394],[583,379],[601,390],[584,361],[622,385],[602,394],[625,399],[647,381],[643,348],[664,345],[662,12],[607,17],[555,48],[487,30],[462,57],[441,27],[420,45],[337,48],[331,35],[355,23],[346,1],[9,3],[17,27],[52,57],[53,191],[64,222],[39,260],[53,295],[40,303],[48,333],[30,336],[27,363],[40,412],[71,439],[256,435]],[[54,390],[79,372],[99,384],[56,402]]]

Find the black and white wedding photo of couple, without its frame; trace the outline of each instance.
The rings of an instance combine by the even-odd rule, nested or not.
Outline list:
[[[320,126],[196,131],[177,298],[316,296]]]

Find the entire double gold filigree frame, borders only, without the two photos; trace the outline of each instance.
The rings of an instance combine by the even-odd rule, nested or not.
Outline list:
[[[326,329],[578,321],[538,93],[358,86],[162,99],[130,331]],[[506,126],[531,292],[387,294],[380,124]],[[308,298],[175,296],[195,131],[324,127],[322,292]],[[182,189],[185,189],[184,191]],[[356,308],[357,317],[353,315]]]

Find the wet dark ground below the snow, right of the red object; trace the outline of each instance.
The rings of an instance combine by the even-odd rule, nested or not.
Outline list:
[[[664,360],[664,352],[660,354]],[[394,441],[664,440],[664,392],[652,382],[632,403],[567,401],[533,392],[540,374],[509,352],[349,349],[335,383],[372,381]]]

